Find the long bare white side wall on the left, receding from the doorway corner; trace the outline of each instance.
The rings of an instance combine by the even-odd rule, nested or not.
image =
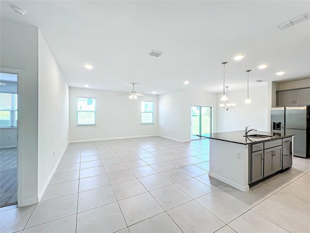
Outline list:
[[[39,31],[38,196],[69,141],[69,86]]]

